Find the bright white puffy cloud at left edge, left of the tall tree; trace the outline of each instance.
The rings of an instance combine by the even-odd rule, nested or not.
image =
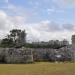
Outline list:
[[[12,27],[13,25],[9,20],[9,16],[0,10],[0,38],[3,38]]]

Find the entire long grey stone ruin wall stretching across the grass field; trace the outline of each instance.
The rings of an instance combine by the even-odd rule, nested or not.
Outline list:
[[[61,49],[0,48],[0,63],[32,63],[34,61],[75,61],[75,45]]]

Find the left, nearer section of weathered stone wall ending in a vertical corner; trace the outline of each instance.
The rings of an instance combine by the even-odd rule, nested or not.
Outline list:
[[[31,50],[6,48],[0,49],[1,61],[5,63],[31,63],[33,54]]]

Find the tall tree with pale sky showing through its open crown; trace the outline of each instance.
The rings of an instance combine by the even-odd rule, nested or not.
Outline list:
[[[22,31],[20,29],[13,29],[10,31],[10,36],[13,38],[14,44],[16,46],[23,46],[26,40],[26,33],[25,30]]]

